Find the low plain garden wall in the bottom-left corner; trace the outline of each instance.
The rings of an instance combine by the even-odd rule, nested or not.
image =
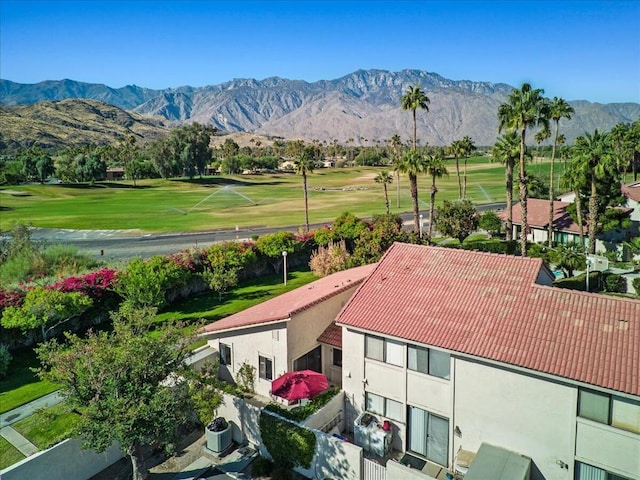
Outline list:
[[[120,460],[118,445],[104,453],[82,450],[82,440],[67,439],[0,472],[2,480],[87,480]]]

